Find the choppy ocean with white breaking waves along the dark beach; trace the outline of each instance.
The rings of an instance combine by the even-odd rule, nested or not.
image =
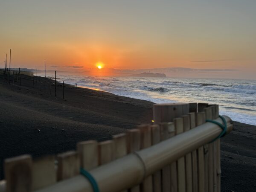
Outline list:
[[[58,76],[65,83],[119,96],[166,102],[218,104],[221,115],[256,125],[256,80]]]

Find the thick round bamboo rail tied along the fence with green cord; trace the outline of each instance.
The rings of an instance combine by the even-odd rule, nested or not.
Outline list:
[[[227,120],[228,133],[232,130],[231,119]],[[216,119],[222,123],[221,118]],[[98,183],[101,192],[122,191],[142,182],[145,177],[169,165],[205,143],[209,143],[221,133],[221,128],[213,123],[204,123],[179,134],[172,139],[136,151],[125,157],[99,166],[90,173]],[[114,178],[114,179],[113,179]],[[37,192],[93,192],[91,184],[82,175],[63,180]]]

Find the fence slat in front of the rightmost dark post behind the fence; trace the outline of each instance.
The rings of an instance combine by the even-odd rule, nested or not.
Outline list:
[[[198,112],[196,115],[197,126],[202,125],[205,122],[205,113]],[[198,191],[204,192],[204,146],[201,146],[197,150],[198,153]]]

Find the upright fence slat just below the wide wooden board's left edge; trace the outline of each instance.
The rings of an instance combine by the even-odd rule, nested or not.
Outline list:
[[[152,145],[155,145],[160,142],[160,127],[159,125],[151,125],[151,137]],[[157,171],[153,174],[153,191],[161,192],[161,171]]]

